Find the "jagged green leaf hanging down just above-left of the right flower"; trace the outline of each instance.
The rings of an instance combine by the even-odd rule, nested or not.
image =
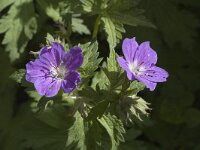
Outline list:
[[[122,33],[125,32],[123,24],[108,17],[102,17],[101,20],[104,23],[104,30],[107,33],[110,50],[114,49],[122,39]]]

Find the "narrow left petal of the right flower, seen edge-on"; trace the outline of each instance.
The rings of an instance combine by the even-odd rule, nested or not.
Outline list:
[[[117,62],[119,63],[120,67],[122,67],[124,70],[126,70],[128,79],[134,80],[135,77],[134,77],[133,73],[130,71],[130,69],[128,68],[127,62],[122,57],[118,57]]]

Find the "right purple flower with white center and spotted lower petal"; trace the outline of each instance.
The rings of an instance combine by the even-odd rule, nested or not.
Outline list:
[[[168,73],[156,67],[157,54],[150,47],[150,42],[143,42],[140,45],[135,38],[126,38],[122,44],[125,59],[118,57],[117,61],[127,72],[129,80],[137,79],[143,82],[150,91],[153,91],[157,82],[165,82]]]

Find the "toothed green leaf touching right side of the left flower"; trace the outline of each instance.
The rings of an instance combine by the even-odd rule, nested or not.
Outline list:
[[[102,60],[101,58],[98,58],[98,43],[88,42],[86,44],[81,44],[80,47],[83,50],[84,62],[81,65],[79,71],[83,78],[92,77]]]

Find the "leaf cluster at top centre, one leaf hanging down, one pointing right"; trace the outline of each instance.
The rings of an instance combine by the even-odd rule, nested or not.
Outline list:
[[[123,24],[155,27],[142,15],[142,10],[135,9],[136,3],[134,1],[81,0],[81,2],[83,3],[84,11],[91,15],[98,14],[101,18],[110,49],[115,48],[122,39],[122,33],[125,33]]]

